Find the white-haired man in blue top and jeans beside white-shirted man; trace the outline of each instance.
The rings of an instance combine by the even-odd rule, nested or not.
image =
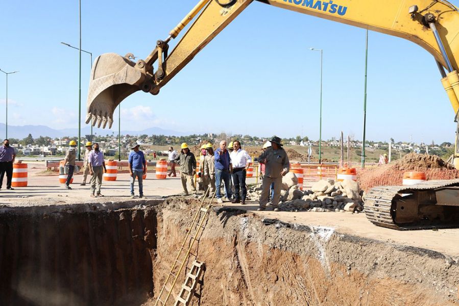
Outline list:
[[[217,202],[223,203],[222,194],[220,192],[220,185],[222,180],[225,183],[225,191],[227,199],[231,198],[231,189],[230,189],[230,176],[231,172],[231,163],[229,152],[226,149],[226,141],[222,140],[220,142],[220,147],[215,150],[215,187],[217,189],[216,197]]]

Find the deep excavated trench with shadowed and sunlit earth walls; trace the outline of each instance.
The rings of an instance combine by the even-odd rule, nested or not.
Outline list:
[[[0,305],[153,305],[197,204],[0,208]],[[459,304],[457,259],[332,228],[217,209],[193,253],[194,305]]]

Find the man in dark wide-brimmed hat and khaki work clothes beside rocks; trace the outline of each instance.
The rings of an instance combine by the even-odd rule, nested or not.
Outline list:
[[[274,211],[279,211],[279,196],[282,185],[282,176],[288,173],[290,162],[285,150],[282,148],[279,137],[273,137],[271,142],[271,148],[265,150],[259,157],[258,162],[264,164],[264,176],[263,183],[261,184],[261,197],[260,207],[258,211],[266,209],[266,204],[269,200],[270,186],[274,183],[274,197],[272,199],[272,205]]]

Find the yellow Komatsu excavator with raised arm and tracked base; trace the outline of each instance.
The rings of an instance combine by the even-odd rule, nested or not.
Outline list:
[[[104,128],[123,99],[142,90],[158,94],[185,65],[254,0],[201,0],[145,59],[107,53],[95,59],[89,83],[86,123]],[[446,0],[256,0],[268,5],[401,37],[429,52],[453,107],[459,109],[459,12]],[[168,43],[194,20],[175,48]],[[433,62],[433,61],[432,61]],[[446,71],[445,71],[446,69]],[[453,163],[459,169],[459,125]],[[459,225],[459,180],[369,191],[368,219],[407,230]]]

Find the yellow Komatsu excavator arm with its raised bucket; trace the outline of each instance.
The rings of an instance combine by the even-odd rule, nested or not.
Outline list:
[[[456,114],[459,110],[459,12],[446,0],[257,1],[413,41],[437,61],[453,111]],[[96,58],[89,83],[86,123],[92,121],[99,127],[105,128],[107,124],[111,127],[113,111],[127,96],[138,90],[158,94],[162,86],[252,2],[201,0],[165,40],[157,41],[144,60],[133,62],[132,54],[122,57],[114,53]],[[169,53],[168,43],[191,20],[194,23]],[[455,157],[459,166],[458,152]]]

